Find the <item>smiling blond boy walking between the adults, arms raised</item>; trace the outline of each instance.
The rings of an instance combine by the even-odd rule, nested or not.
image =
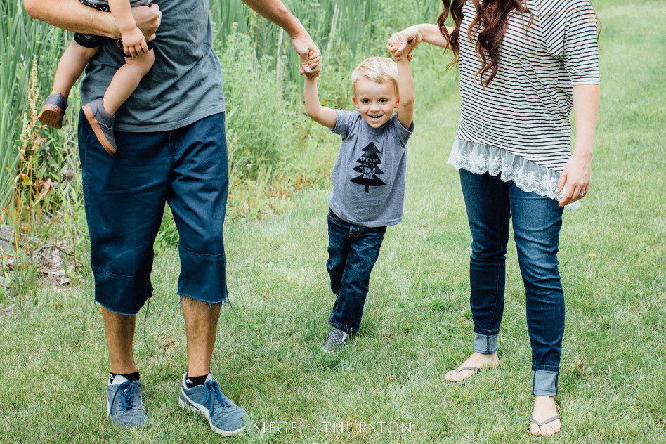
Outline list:
[[[326,268],[336,294],[329,318],[333,329],[323,346],[329,353],[358,332],[386,227],[402,221],[405,146],[414,131],[414,78],[407,57],[398,63],[367,58],[351,79],[354,111],[322,107],[317,80],[305,83],[308,116],[342,136],[328,212]]]

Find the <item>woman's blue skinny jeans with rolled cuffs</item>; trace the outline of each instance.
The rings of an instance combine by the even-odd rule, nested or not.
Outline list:
[[[532,393],[555,396],[564,334],[564,293],[557,270],[563,207],[488,173],[460,169],[460,183],[472,236],[469,303],[474,351],[497,351],[509,219],[513,218],[532,346]]]

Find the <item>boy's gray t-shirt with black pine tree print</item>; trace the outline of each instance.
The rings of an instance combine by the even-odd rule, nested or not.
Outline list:
[[[403,220],[407,140],[397,113],[380,128],[372,128],[359,110],[335,110],[332,129],[342,136],[333,166],[332,211],[343,221],[365,227],[396,225]]]

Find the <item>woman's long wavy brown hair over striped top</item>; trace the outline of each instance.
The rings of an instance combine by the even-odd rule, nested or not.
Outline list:
[[[456,65],[460,53],[460,24],[462,22],[462,7],[466,0],[442,0],[444,10],[437,18],[437,25],[444,38],[453,50],[454,58],[449,67]],[[482,3],[483,2],[483,3]],[[476,17],[472,20],[467,37],[474,42],[476,55],[481,61],[481,70],[476,72],[474,78],[480,77],[481,84],[488,86],[497,74],[497,60],[500,58],[500,44],[507,32],[509,14],[512,11],[530,15],[527,28],[532,25],[534,15],[523,5],[522,0],[471,0],[476,9]],[[449,13],[453,19],[455,29],[448,33],[445,21]],[[476,35],[475,35],[476,34]]]

